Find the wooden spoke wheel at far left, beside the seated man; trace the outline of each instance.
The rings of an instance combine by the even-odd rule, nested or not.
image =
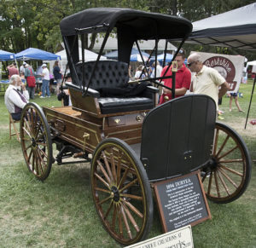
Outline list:
[[[22,110],[20,142],[28,169],[38,180],[44,181],[51,169],[52,142],[49,124],[36,103],[28,103]]]

